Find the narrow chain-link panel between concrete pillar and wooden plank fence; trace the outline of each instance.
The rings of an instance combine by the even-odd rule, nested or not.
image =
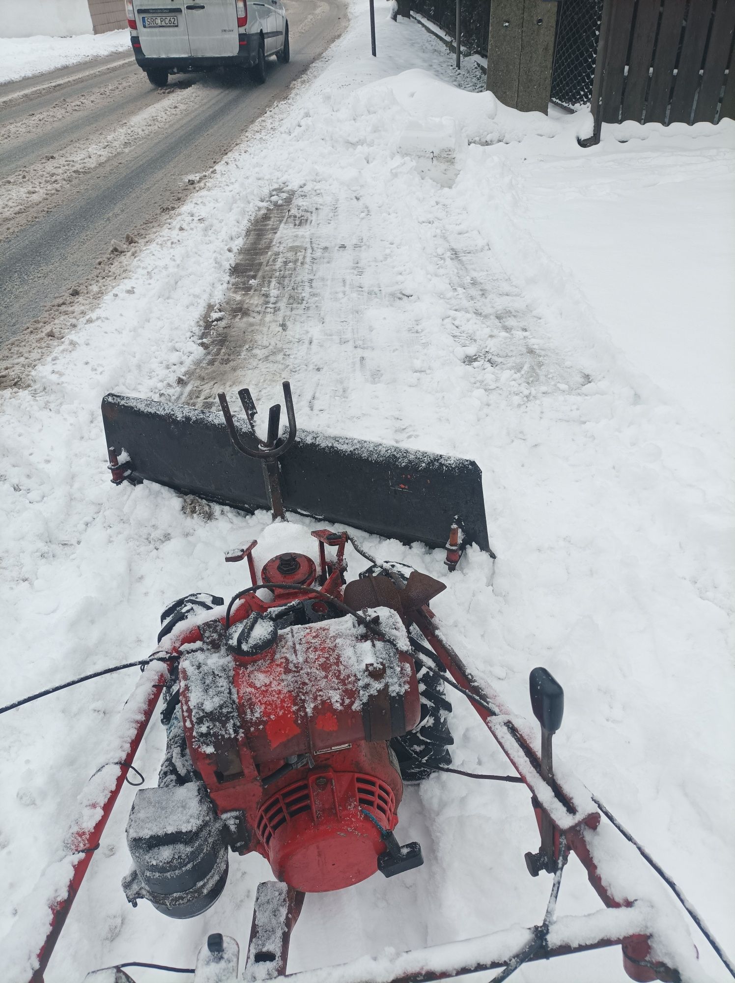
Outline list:
[[[602,0],[561,0],[559,8],[551,101],[570,109],[589,106]]]

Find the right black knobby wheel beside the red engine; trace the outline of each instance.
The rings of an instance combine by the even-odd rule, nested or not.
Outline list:
[[[417,664],[422,718],[416,727],[401,737],[394,737],[390,746],[401,766],[403,781],[422,781],[433,772],[452,764],[449,747],[454,744],[447,718],[452,705],[444,694],[441,676],[424,665]]]

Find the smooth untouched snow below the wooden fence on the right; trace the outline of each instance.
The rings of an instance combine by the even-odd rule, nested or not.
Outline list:
[[[718,274],[735,269],[735,164],[725,123],[722,131],[610,128],[628,143],[608,137],[584,171],[537,158],[519,175],[517,197],[560,275],[574,276],[632,366],[666,402],[727,438],[735,431],[735,280]]]

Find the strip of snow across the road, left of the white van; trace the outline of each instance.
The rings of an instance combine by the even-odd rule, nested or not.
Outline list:
[[[72,37],[0,37],[0,85],[128,50],[128,29]]]

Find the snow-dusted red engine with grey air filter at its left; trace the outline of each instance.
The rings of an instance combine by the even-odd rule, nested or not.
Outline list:
[[[237,558],[248,557],[254,587],[224,616],[199,613],[196,628],[177,628],[222,604],[203,595],[164,612],[162,634],[184,633],[162,715],[158,787],[141,789],[128,824],[135,869],[124,888],[134,903],[146,897],[174,917],[198,914],[224,887],[228,848],[256,850],[303,892],[423,862],[418,843],[400,847],[392,833],[403,782],[389,741],[422,718],[401,592],[380,575],[343,588],[346,536],[312,535],[319,571],[306,555],[282,553],[256,584],[253,544]],[[325,546],[336,547],[331,561]],[[443,588],[430,584],[428,594]]]

